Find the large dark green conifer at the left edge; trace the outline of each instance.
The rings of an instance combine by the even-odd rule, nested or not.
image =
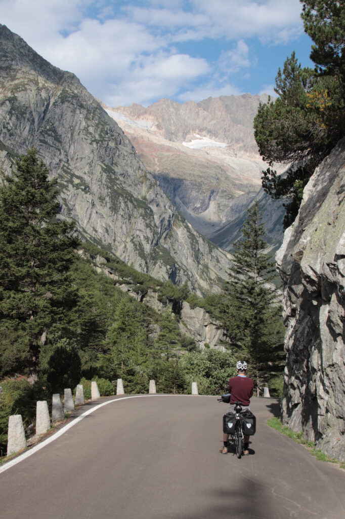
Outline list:
[[[0,334],[2,373],[37,372],[41,344],[63,334],[76,303],[69,269],[78,240],[59,221],[56,180],[31,149],[0,187]]]

